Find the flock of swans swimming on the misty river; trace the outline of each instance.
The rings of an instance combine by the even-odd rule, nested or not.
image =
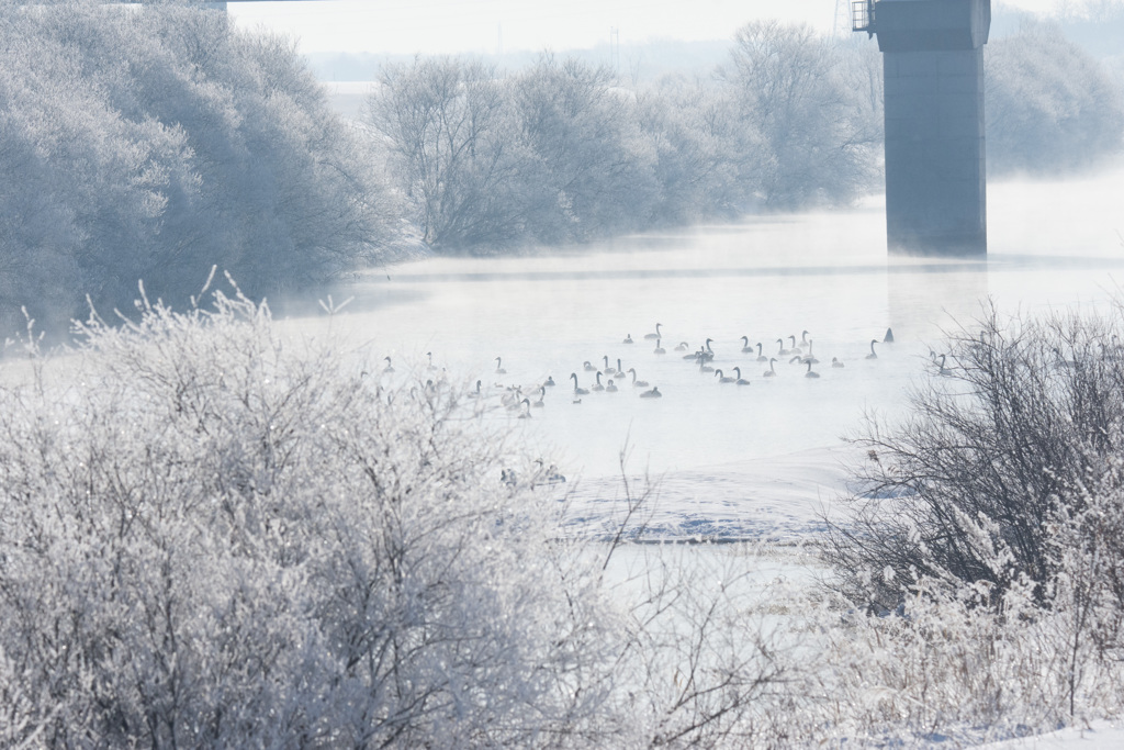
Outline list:
[[[655,356],[668,355],[669,350],[663,346],[662,327],[663,324],[656,323],[655,331],[644,334],[644,336],[640,340],[634,340],[632,334],[628,334],[624,337],[620,344],[632,349],[636,347],[638,342],[644,342],[649,345],[652,345],[654,342],[652,354]],[[815,365],[819,364],[819,360],[814,353],[814,340],[808,337],[808,333],[809,332],[807,331],[803,331],[799,340],[797,340],[796,335],[777,338],[773,342],[777,346],[776,352],[767,352],[762,342],[751,344],[749,336],[742,336],[741,347],[736,350],[736,353],[743,355],[745,359],[740,364],[731,364],[728,368],[715,367],[716,352],[713,347],[713,344],[715,343],[714,338],[705,340],[703,344],[696,349],[692,349],[688,342],[682,341],[671,347],[670,353],[678,354],[685,362],[689,362],[690,367],[697,368],[699,373],[713,377],[714,380],[720,385],[733,385],[740,387],[751,385],[747,373],[752,365],[749,363],[753,363],[762,368],[768,365],[768,369],[763,369],[761,371],[761,377],[765,379],[778,377],[778,362],[788,362],[792,365],[804,365],[806,369],[804,370],[803,376],[805,378],[815,379],[821,377],[821,373],[814,369]],[[865,359],[877,360],[877,346],[892,342],[894,333],[891,329],[887,328],[886,335],[881,340],[870,340],[870,352],[865,355]],[[571,372],[566,379],[572,383],[572,389],[570,391],[572,403],[581,404],[582,397],[590,396],[591,394],[631,391],[638,395],[640,398],[661,398],[663,396],[660,387],[641,378],[636,368],[625,368],[623,359],[624,358],[614,359],[608,354],[605,354],[599,360],[586,360],[582,362],[581,367]],[[495,358],[493,362],[496,363],[495,374],[507,374],[501,356]],[[717,361],[717,363],[720,363],[720,361]],[[743,365],[745,372],[743,372]],[[387,367],[390,367],[389,358],[387,358]],[[828,367],[839,369],[845,367],[845,364],[839,358],[833,356]],[[579,372],[581,372],[581,376],[579,376]],[[547,389],[555,388],[556,386],[558,383],[555,383],[553,376],[547,377],[543,382],[535,383],[531,388],[524,388],[522,386],[505,387],[498,382],[496,383],[497,388],[504,389],[501,398],[504,405],[511,412],[518,412],[519,418],[529,418],[533,409],[544,406]],[[481,388],[482,381],[478,380],[478,396],[483,395]]]

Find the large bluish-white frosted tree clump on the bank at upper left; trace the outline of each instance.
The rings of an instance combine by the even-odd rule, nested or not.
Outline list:
[[[289,42],[188,3],[4,3],[0,318],[263,295],[375,257],[389,201]]]

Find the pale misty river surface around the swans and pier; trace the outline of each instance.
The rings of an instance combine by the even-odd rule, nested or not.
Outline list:
[[[888,259],[878,200],[518,257],[425,259],[335,290],[337,302],[353,299],[332,325],[399,371],[432,363],[430,372],[479,379],[492,392],[552,377],[543,406],[525,407],[532,418],[502,409],[493,418],[509,421],[571,482],[580,478],[588,501],[620,500],[627,445],[629,472],[660,478],[668,533],[804,530],[842,488],[850,454],[841,437],[864,414],[903,413],[909,383],[932,372],[942,329],[978,316],[986,298],[1034,313],[1093,309],[1116,293],[1124,171],[994,183],[988,213],[984,261]],[[665,354],[644,338],[656,323]],[[877,359],[867,359],[887,328],[895,343],[874,344]],[[805,331],[819,378],[778,353]],[[742,336],[752,353],[741,351]],[[682,359],[707,338],[710,364],[725,374],[741,368],[749,386],[719,383]],[[674,351],[680,342],[688,352]],[[778,359],[776,377],[763,377],[770,365],[756,361],[758,342]],[[662,398],[640,398],[646,388],[626,374],[614,376],[617,392],[574,403],[571,373],[589,389],[596,373],[583,363],[604,369],[605,358],[635,369]]]

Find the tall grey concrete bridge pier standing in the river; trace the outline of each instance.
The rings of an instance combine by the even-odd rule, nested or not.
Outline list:
[[[986,254],[990,0],[860,0],[853,19],[882,52],[889,252]]]

